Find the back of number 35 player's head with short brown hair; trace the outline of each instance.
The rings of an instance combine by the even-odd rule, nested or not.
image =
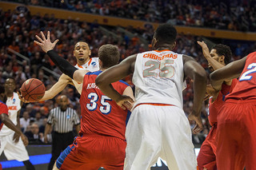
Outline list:
[[[117,65],[120,59],[120,53],[116,45],[102,45],[98,49],[98,58],[102,61],[102,68],[109,68]]]

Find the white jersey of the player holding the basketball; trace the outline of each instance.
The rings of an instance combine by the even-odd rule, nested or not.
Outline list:
[[[74,65],[75,68],[77,69],[87,69],[90,72],[94,72],[94,71],[98,71],[99,70],[99,65],[98,65],[98,57],[92,57],[90,58],[90,61],[87,61],[86,64],[84,65]],[[82,83],[78,83],[77,81],[74,81],[72,79],[73,83],[74,83],[74,87],[75,89],[78,90],[78,93],[82,93]]]

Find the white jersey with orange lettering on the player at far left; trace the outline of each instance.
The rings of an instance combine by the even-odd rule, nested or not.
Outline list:
[[[14,125],[17,125],[17,114],[18,111],[22,108],[21,100],[18,98],[18,94],[14,92],[13,97],[7,97],[6,105],[8,107],[8,116],[10,121],[12,121]],[[0,136],[9,135],[12,132],[12,129],[7,128],[6,125],[3,125],[0,131]]]

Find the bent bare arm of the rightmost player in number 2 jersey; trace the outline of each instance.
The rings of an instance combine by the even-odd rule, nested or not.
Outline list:
[[[238,61],[231,62],[222,69],[215,70],[213,73],[210,73],[211,85],[214,89],[220,90],[222,88],[222,82],[239,77],[245,65],[246,57],[243,57]]]

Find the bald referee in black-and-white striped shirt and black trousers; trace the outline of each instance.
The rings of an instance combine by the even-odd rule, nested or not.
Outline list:
[[[51,148],[51,158],[48,169],[51,170],[55,160],[66,147],[73,143],[73,127],[77,132],[80,130],[80,120],[74,109],[68,107],[68,98],[65,95],[60,97],[59,107],[51,109],[47,120],[44,134],[44,141],[48,143],[47,134],[50,133],[53,126],[53,142]]]

